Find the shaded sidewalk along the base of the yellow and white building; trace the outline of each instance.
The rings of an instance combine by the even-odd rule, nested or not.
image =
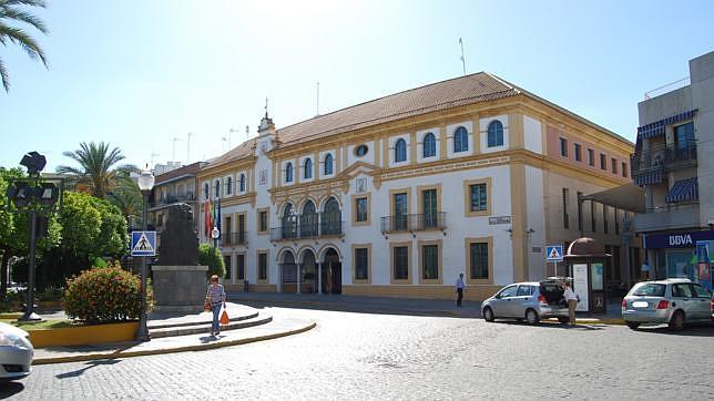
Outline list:
[[[363,313],[411,315],[456,318],[481,318],[480,301],[463,301],[457,308],[451,300],[422,298],[357,297],[334,294],[285,294],[228,291],[228,299],[252,307],[324,309]],[[608,313],[578,313],[578,320],[590,323],[623,323],[620,304],[608,305]]]

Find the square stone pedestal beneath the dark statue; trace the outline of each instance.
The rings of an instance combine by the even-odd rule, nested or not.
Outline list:
[[[208,266],[153,266],[154,311],[201,312]]]

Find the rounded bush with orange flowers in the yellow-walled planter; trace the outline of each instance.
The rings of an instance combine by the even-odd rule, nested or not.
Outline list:
[[[92,268],[67,280],[62,305],[67,316],[86,322],[137,319],[141,280],[118,265]]]

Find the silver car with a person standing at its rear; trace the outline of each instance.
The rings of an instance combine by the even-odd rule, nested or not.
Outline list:
[[[565,323],[569,320],[562,289],[565,280],[565,277],[551,277],[506,286],[481,304],[481,316],[486,321],[511,318],[536,325],[541,319],[558,318]]]

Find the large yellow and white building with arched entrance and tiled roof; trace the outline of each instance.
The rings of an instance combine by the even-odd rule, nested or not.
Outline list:
[[[228,288],[449,299],[463,273],[484,299],[552,275],[545,246],[581,225],[620,244],[622,212],[577,196],[629,183],[632,151],[482,72],[279,130],[266,113],[197,179],[221,198]]]

